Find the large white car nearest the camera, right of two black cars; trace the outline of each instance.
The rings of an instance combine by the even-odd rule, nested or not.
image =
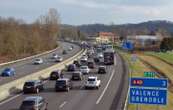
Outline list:
[[[97,76],[89,76],[85,83],[85,88],[99,89],[100,85],[101,85],[101,81],[98,80]]]

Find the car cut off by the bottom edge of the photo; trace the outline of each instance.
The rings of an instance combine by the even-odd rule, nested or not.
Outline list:
[[[20,105],[19,110],[46,110],[47,103],[41,96],[28,96]]]

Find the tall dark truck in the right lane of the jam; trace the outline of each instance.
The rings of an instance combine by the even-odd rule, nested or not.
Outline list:
[[[103,54],[104,56],[104,64],[105,65],[113,65],[114,64],[114,50],[106,50]]]

